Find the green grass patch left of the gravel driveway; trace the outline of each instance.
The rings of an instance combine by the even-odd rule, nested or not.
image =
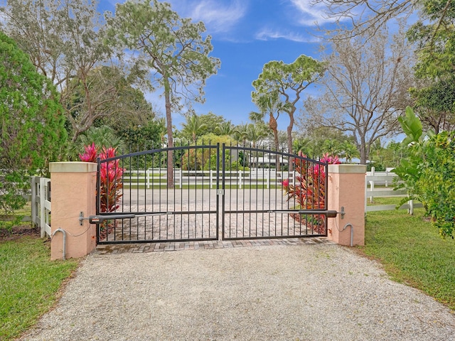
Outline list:
[[[55,304],[77,264],[50,261],[43,239],[0,241],[0,340],[13,340],[36,323]]]

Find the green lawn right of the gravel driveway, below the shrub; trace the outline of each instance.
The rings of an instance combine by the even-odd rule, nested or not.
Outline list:
[[[455,310],[455,241],[442,239],[423,209],[369,212],[363,254],[392,279],[418,288]]]

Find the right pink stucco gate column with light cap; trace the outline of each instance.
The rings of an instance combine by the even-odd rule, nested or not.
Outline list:
[[[341,245],[365,245],[364,165],[328,165],[328,210],[346,214],[328,218],[328,239]]]

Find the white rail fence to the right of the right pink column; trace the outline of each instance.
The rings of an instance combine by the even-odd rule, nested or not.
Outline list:
[[[398,175],[392,172],[392,168],[387,168],[385,172],[375,172],[372,167],[365,176],[365,212],[390,211],[395,210],[396,205],[367,205],[368,200],[373,202],[375,197],[406,197],[406,190],[393,190]],[[375,187],[376,186],[376,187]],[[378,187],[379,186],[379,187]],[[401,205],[400,210],[407,210],[410,215],[414,213],[414,208],[422,207],[420,202],[409,200]]]

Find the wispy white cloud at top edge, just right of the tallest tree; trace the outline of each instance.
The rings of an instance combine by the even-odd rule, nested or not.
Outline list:
[[[181,1],[172,0],[172,8],[193,21],[203,21],[208,32],[228,32],[242,19],[247,12],[245,0],[229,1],[198,0]]]

